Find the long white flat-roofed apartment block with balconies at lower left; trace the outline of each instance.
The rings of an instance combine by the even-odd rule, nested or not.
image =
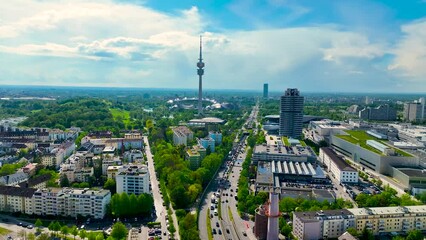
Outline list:
[[[34,193],[34,214],[102,219],[111,201],[108,190],[72,188],[39,189]]]

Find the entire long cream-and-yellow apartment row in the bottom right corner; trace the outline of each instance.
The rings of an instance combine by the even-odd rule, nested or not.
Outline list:
[[[293,235],[299,240],[338,238],[348,228],[367,228],[374,235],[426,231],[426,205],[353,208],[293,213]]]

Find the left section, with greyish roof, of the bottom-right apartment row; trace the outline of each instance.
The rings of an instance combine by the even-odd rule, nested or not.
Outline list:
[[[338,238],[355,224],[347,209],[293,213],[293,235],[299,240]]]

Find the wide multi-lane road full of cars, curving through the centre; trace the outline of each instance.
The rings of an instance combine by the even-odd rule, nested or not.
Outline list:
[[[252,123],[255,123],[258,110],[258,105],[256,105],[245,126],[251,126]],[[243,128],[243,130],[245,129]],[[215,240],[255,239],[251,231],[253,222],[241,219],[237,211],[238,201],[235,198],[238,194],[238,179],[242,170],[242,163],[248,150],[246,139],[247,136],[239,139],[224,166],[218,172],[216,179],[212,180],[209,193],[206,195],[200,211],[200,220],[198,221],[201,239],[208,239],[209,233],[207,232],[208,228],[205,221],[207,217],[210,218],[213,239]],[[215,214],[215,211],[219,210],[218,204],[212,203],[213,195],[218,196],[215,199],[220,202],[220,217],[219,214]],[[208,211],[210,211],[210,216],[207,216]]]

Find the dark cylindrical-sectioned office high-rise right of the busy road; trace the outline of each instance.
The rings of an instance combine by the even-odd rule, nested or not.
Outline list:
[[[288,88],[280,101],[281,136],[300,138],[302,136],[303,101],[297,88]]]

